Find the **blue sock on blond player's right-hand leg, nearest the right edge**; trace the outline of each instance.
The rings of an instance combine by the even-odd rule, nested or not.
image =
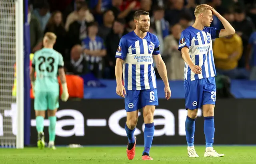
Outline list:
[[[204,117],[204,135],[206,141],[206,148],[212,147],[214,140],[214,117]]]

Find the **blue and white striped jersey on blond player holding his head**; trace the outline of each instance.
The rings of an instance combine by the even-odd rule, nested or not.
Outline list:
[[[218,38],[219,34],[220,29],[212,27],[204,27],[201,31],[190,26],[182,31],[178,49],[181,51],[183,47],[188,47],[192,62],[202,67],[202,73],[195,74],[185,62],[184,80],[193,81],[216,76],[212,40]]]

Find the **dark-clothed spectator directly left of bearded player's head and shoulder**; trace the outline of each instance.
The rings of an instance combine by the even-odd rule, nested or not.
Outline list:
[[[125,29],[125,21],[123,19],[117,19],[114,22],[113,29],[110,34],[106,38],[106,49],[107,49],[107,56],[106,56],[106,78],[114,79],[114,70],[116,64],[116,49],[118,47],[119,41],[122,36],[127,34],[128,32]]]

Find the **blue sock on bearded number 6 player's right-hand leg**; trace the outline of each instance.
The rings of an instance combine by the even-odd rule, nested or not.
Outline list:
[[[150,124],[145,124],[145,129],[144,129],[144,151],[142,154],[146,153],[149,155],[149,150],[152,145],[152,141],[154,138],[154,131],[155,131],[155,126],[154,123]]]

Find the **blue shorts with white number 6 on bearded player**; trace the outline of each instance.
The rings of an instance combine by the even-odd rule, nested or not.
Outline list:
[[[158,105],[158,96],[156,89],[146,90],[127,90],[124,97],[126,112],[137,111],[146,105]]]

